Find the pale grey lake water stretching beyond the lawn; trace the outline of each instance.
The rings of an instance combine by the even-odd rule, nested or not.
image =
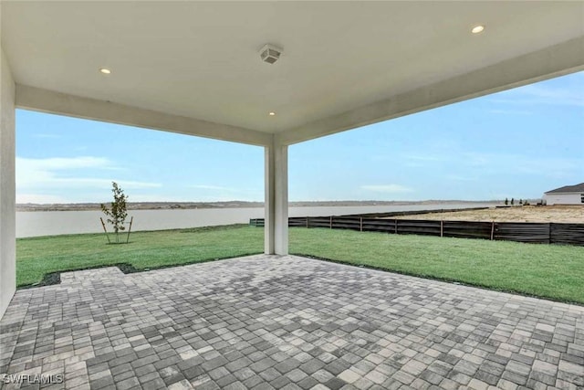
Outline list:
[[[461,203],[407,206],[307,206],[290,207],[289,216],[343,216],[349,214],[387,213],[392,211],[469,208],[492,204]],[[16,237],[52,236],[103,231],[101,211],[23,211],[16,213]],[[263,208],[199,208],[188,210],[135,210],[132,231],[163,230],[183,227],[208,227],[246,224],[250,218],[263,218]],[[105,220],[105,218],[104,218]]]

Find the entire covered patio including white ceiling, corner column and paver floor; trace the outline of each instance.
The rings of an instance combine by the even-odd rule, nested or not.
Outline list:
[[[287,256],[289,145],[582,70],[584,3],[2,1],[0,16],[0,374],[584,385],[581,307]],[[264,147],[266,256],[16,291],[16,108]]]

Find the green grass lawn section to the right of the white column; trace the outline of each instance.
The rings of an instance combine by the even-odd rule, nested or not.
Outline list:
[[[469,238],[290,229],[290,252],[584,303],[584,248]]]

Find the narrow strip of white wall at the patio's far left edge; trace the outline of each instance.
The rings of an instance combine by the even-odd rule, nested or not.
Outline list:
[[[0,318],[16,291],[15,81],[0,47]]]

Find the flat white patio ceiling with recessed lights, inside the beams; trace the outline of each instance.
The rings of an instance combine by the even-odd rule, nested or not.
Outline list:
[[[260,132],[578,37],[584,2],[2,2],[17,84]]]

